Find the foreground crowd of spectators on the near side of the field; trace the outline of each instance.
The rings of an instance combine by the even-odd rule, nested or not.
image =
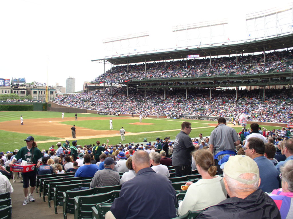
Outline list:
[[[191,132],[190,126],[189,122],[181,124],[181,131],[175,142],[170,141],[170,137],[156,138],[154,143],[141,144],[110,144],[107,140],[102,144],[96,141],[95,144],[82,146],[77,145],[77,141],[72,141],[71,145],[69,141],[65,141],[63,145],[58,142],[57,146],[52,145],[48,150],[40,151],[37,148],[35,150],[42,153],[38,159],[42,161],[37,179],[42,180],[42,175],[46,177],[46,181],[42,180],[44,190],[45,185],[50,183],[51,178],[47,178],[52,176],[50,174],[61,178],[64,174],[64,177],[68,176],[69,183],[72,182],[72,177],[69,177],[73,175],[66,175],[66,172],[73,173],[73,182],[78,184],[62,183],[60,187],[74,188],[66,190],[65,194],[69,197],[78,195],[79,198],[75,200],[77,203],[70,204],[72,201],[66,201],[66,196],[60,202],[65,205],[65,215],[74,213],[77,218],[92,217],[94,211],[87,211],[86,205],[102,204],[103,196],[107,199],[109,197],[108,193],[96,191],[109,191],[114,187],[121,190],[116,191],[117,196],[111,198],[111,203],[102,204],[110,210],[107,210],[106,218],[135,218],[141,215],[166,219],[175,218],[176,215],[185,215],[184,218],[192,215],[194,218],[215,218],[219,214],[227,218],[247,218],[249,215],[257,215],[257,218],[291,218],[293,132],[290,128],[267,130],[253,123],[250,129],[245,127],[236,133],[220,117],[209,137],[199,134],[198,138],[191,139],[188,136]],[[222,132],[226,134],[218,134]],[[32,136],[27,139],[34,142]],[[223,142],[226,143],[222,144]],[[19,158],[22,150],[23,148],[15,149],[13,153],[0,153],[3,165],[1,179],[12,177],[5,167],[13,162],[21,162]],[[186,162],[190,162],[190,166]],[[178,163],[185,163],[186,170],[177,165]],[[187,172],[189,173],[185,174]],[[17,174],[13,174],[13,182],[16,180]],[[52,182],[54,180],[56,178],[53,177]],[[6,185],[0,183],[0,188],[3,190],[5,187],[5,191],[1,192],[12,193],[10,182],[6,178],[3,182]],[[144,185],[140,187],[140,192],[136,196],[129,196],[129,192],[135,188],[133,186],[139,182]],[[57,184],[53,187],[53,191],[58,190]],[[47,193],[43,191],[44,196],[50,193],[50,187],[48,188]],[[113,191],[110,190],[110,194],[113,195]],[[51,200],[54,200],[55,205],[56,199]],[[87,200],[85,206],[79,200]],[[32,194],[24,204],[29,201],[35,201]],[[125,201],[129,204],[125,204]],[[164,208],[156,207],[156,202],[165,203]],[[153,207],[152,211],[145,206]],[[100,207],[102,206],[97,205],[97,208]],[[119,213],[121,207],[125,207],[123,214]],[[78,209],[74,211],[74,208]]]

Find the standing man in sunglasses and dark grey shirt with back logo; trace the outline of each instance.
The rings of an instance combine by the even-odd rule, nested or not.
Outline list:
[[[175,177],[191,174],[191,152],[195,147],[189,137],[191,132],[190,122],[181,124],[181,131],[175,138],[172,165],[175,168]]]

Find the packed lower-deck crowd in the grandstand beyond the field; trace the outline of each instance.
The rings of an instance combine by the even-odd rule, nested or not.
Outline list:
[[[260,92],[261,91],[261,92]],[[209,89],[166,92],[166,100],[161,91],[144,91],[125,88],[106,88],[81,94],[72,94],[54,102],[69,107],[97,110],[120,114],[148,114],[178,117],[178,115],[223,116],[238,118],[246,114],[248,120],[259,122],[293,122],[293,105],[290,89],[266,89],[266,100],[262,100],[262,90],[239,90],[236,101],[235,90],[212,90],[209,100]]]

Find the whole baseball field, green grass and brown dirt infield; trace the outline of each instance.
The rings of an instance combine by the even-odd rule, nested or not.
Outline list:
[[[20,116],[23,116],[23,125],[20,123]],[[123,127],[126,131],[125,141],[142,142],[144,138],[147,141],[155,141],[155,138],[171,137],[175,139],[181,129],[181,123],[189,121],[192,131],[191,138],[198,137],[199,133],[203,136],[209,136],[211,131],[217,125],[217,122],[188,119],[142,119],[139,123],[138,117],[106,116],[97,114],[77,114],[78,121],[75,121],[74,113],[65,113],[64,119],[59,112],[45,111],[13,111],[0,112],[0,151],[13,151],[16,148],[25,146],[24,139],[33,136],[38,144],[38,148],[47,150],[51,145],[57,142],[64,143],[65,140],[77,140],[78,145],[95,144],[97,140],[105,143],[109,139],[110,144],[121,142],[119,130]],[[110,130],[109,120],[113,120],[113,130]],[[76,137],[71,135],[71,127],[76,127]],[[241,126],[229,126],[235,128],[237,132],[241,131]],[[248,125],[249,126],[249,125]],[[249,127],[248,127],[249,128]],[[266,126],[268,130],[280,128]]]

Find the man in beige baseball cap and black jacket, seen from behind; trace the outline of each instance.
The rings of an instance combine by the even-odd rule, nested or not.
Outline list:
[[[230,156],[224,164],[224,184],[230,198],[207,208],[197,218],[281,218],[274,201],[258,188],[260,180],[253,159]]]

